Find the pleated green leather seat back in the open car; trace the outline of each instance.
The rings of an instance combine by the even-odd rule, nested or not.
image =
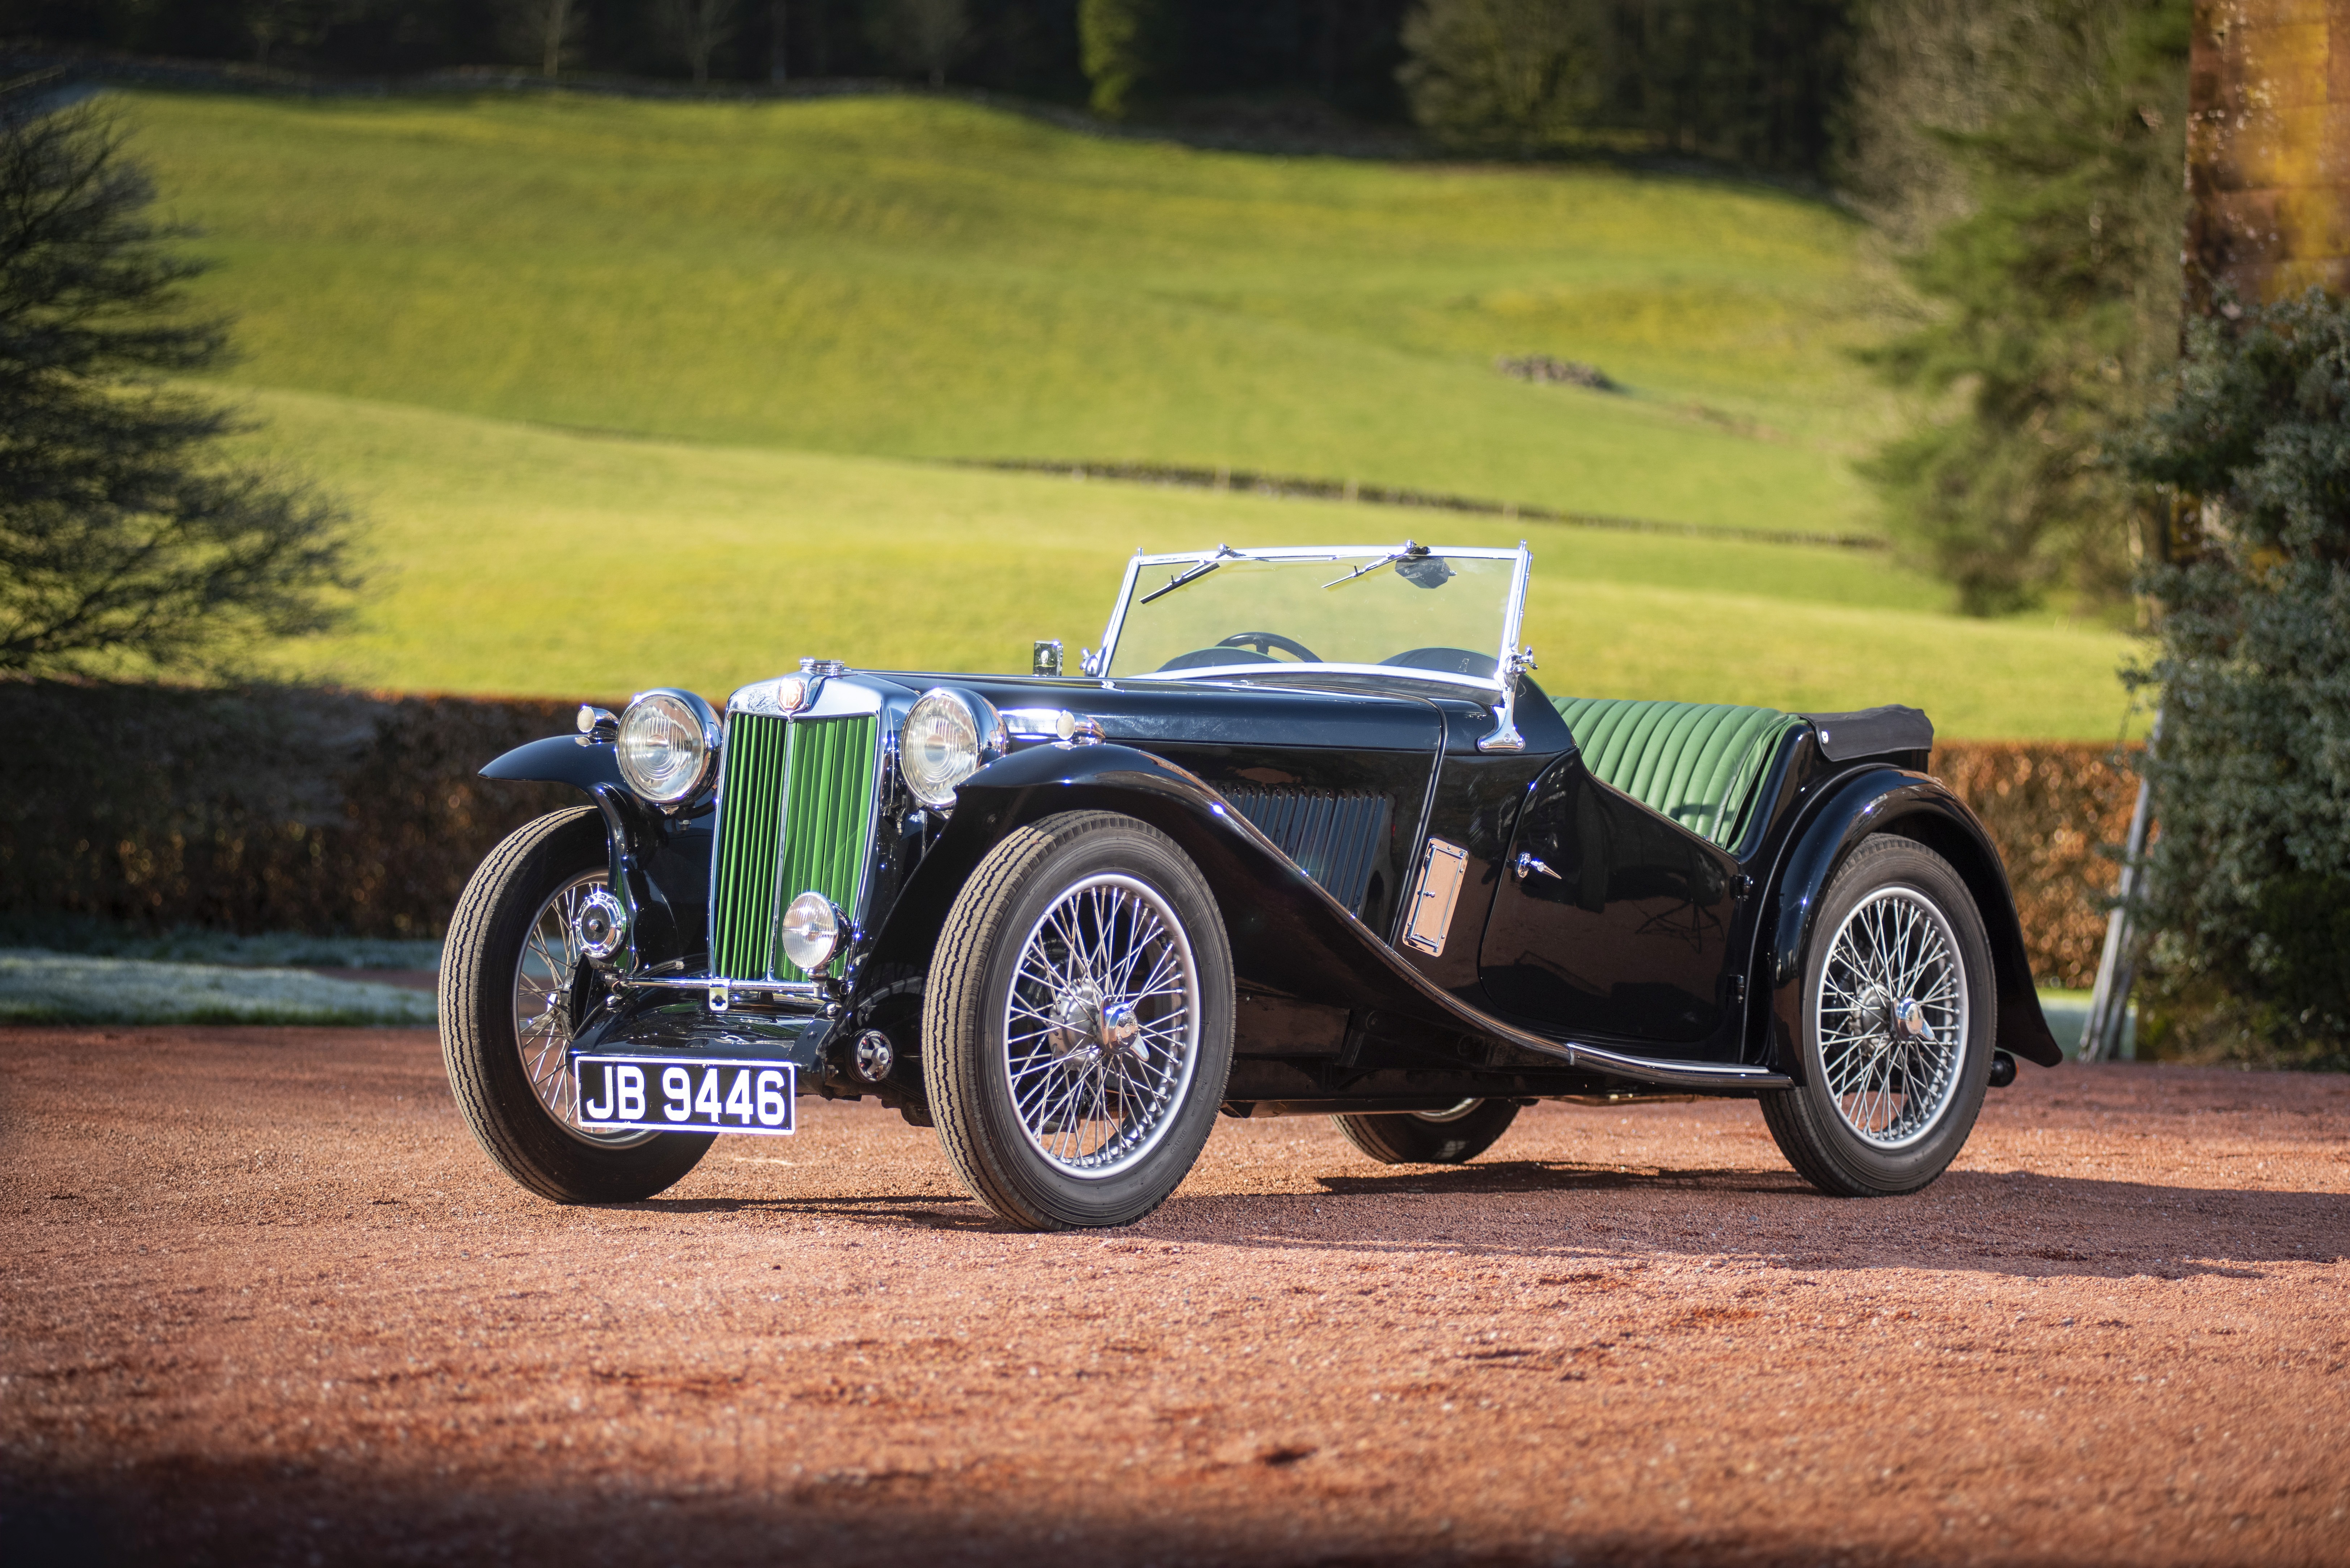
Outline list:
[[[1802,726],[1791,712],[1732,703],[1563,696],[1551,705],[1603,783],[1720,846],[1746,825],[1779,738]]]

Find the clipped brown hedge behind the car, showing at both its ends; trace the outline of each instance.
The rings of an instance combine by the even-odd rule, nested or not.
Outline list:
[[[491,844],[569,804],[477,776],[576,703],[0,684],[0,912],[439,936]],[[2136,773],[2101,745],[1946,743],[2016,886],[2033,971],[2089,985]]]

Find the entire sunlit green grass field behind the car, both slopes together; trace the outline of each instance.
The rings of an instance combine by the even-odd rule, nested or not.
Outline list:
[[[1835,209],[1579,167],[1198,153],[959,101],[127,94],[240,313],[254,447],[371,520],[367,686],[721,696],[799,656],[1018,670],[1137,548],[1513,543],[1563,693],[2108,738],[2129,644],[1873,552],[985,473],[1231,465],[1868,531],[1899,299]],[[1633,395],[1528,386],[1589,360]]]

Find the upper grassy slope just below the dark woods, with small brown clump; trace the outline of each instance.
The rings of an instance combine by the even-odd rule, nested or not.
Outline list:
[[[1234,465],[1866,529],[1859,228],[1758,188],[1281,160],[884,96],[129,94],[247,386],[867,456]],[[1636,395],[1528,386],[1591,360]]]

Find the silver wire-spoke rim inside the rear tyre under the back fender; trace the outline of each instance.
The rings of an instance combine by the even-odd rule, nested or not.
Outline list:
[[[1868,893],[1838,926],[1819,973],[1819,1065],[1838,1117],[1864,1143],[1901,1150],[1958,1095],[1967,1046],[1958,933],[1911,886]]]

